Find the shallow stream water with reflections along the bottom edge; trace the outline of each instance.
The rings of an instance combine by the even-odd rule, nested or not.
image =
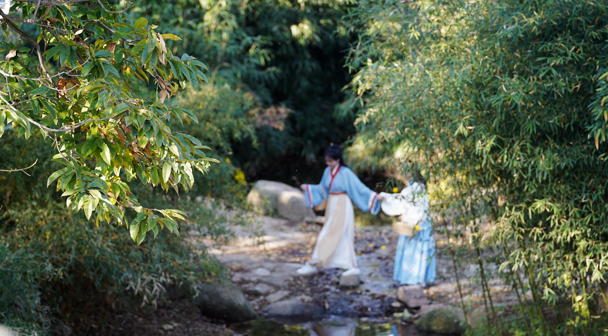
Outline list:
[[[254,320],[231,326],[231,329],[249,336],[439,336],[420,332],[413,324],[373,323],[343,317],[305,323]]]

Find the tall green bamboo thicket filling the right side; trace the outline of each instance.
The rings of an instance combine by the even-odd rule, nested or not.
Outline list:
[[[471,234],[461,248],[478,256],[498,334],[491,263],[520,299],[525,334],[605,324],[607,5],[370,0],[347,16],[362,106],[350,156],[429,180],[440,218]]]

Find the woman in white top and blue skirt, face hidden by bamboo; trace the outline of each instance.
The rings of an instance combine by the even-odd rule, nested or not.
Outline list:
[[[401,215],[401,222],[393,228],[399,234],[393,279],[402,285],[426,285],[435,281],[435,238],[429,215],[429,195],[426,182],[415,172],[410,184],[400,194],[386,194],[382,211],[387,215]],[[382,193],[384,194],[384,193]],[[402,231],[399,232],[399,228]],[[404,234],[403,234],[404,233]]]

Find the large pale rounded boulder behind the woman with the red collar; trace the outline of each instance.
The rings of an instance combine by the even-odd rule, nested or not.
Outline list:
[[[315,217],[313,210],[306,208],[300,189],[277,181],[257,181],[247,194],[247,203],[263,215],[269,215],[272,211],[289,220]]]

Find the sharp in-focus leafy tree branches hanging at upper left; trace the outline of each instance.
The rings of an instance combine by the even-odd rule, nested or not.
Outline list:
[[[125,223],[139,244],[164,226],[178,233],[184,213],[144,208],[125,181],[188,189],[195,169],[205,173],[217,161],[198,139],[169,127],[171,118],[196,121],[171,97],[206,81],[206,65],[174,55],[165,41],[178,36],[126,10],[92,0],[13,1],[2,15],[0,136],[12,123],[19,136],[52,139],[64,167],[49,172],[47,185],[57,181],[67,206],[97,225]],[[142,85],[156,94],[144,95]],[[127,220],[126,209],[136,217]]]

